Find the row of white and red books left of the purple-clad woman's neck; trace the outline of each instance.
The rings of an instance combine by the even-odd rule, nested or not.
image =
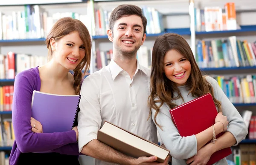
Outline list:
[[[31,56],[15,52],[0,54],[0,79],[14,79],[17,73],[46,63],[47,56]]]

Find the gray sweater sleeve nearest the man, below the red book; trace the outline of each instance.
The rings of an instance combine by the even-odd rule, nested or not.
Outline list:
[[[152,109],[152,119],[155,123],[154,116],[156,111]],[[170,154],[175,159],[189,159],[197,154],[197,140],[195,135],[188,137],[181,137],[169,112],[169,108],[166,104],[160,108],[160,112],[156,117],[157,123],[161,126],[157,126],[157,131],[163,141],[163,144]],[[156,124],[156,123],[155,123]]]

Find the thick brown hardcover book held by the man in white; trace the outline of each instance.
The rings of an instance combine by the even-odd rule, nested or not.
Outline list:
[[[164,162],[170,152],[166,148],[107,121],[98,130],[97,139],[117,151],[134,158],[156,156],[157,162]]]

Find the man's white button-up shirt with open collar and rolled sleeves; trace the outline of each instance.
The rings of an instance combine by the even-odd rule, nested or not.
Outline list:
[[[157,129],[148,119],[150,69],[137,61],[137,70],[131,79],[116,62],[84,79],[81,86],[78,114],[79,152],[84,145],[97,139],[97,131],[105,121],[157,143]],[[147,120],[148,119],[148,120]],[[96,159],[95,165],[113,165]]]

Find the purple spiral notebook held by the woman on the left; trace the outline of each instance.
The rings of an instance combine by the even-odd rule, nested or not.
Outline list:
[[[33,91],[32,117],[43,126],[44,133],[70,131],[80,102],[80,95],[55,95]]]

